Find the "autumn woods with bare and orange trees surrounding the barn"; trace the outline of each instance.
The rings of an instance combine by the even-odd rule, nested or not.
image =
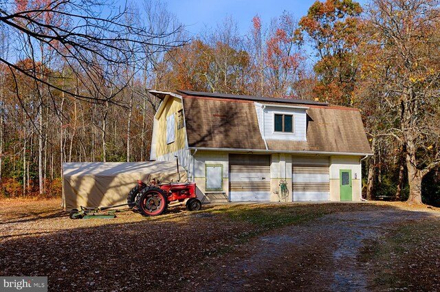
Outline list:
[[[317,1],[198,36],[163,2],[111,7],[0,0],[1,196],[59,196],[63,162],[148,160],[146,90],[186,89],[356,107],[366,198],[440,205],[439,1]]]

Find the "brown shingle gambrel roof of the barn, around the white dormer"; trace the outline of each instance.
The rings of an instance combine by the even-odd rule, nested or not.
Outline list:
[[[188,146],[265,150],[254,102],[284,104],[274,98],[232,98],[183,93]],[[191,93],[191,94],[190,94]],[[216,93],[217,94],[217,93]],[[269,100],[266,100],[269,99]],[[284,101],[284,99],[281,99]],[[292,103],[292,102],[291,102]],[[320,102],[298,102],[307,109],[307,142],[267,140],[269,150],[325,153],[371,153],[360,112]]]

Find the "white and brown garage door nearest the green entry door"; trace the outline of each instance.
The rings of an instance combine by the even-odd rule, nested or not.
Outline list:
[[[294,201],[330,201],[329,157],[292,157]]]

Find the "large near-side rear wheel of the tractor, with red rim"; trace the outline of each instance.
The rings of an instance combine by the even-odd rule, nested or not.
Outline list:
[[[165,192],[155,186],[142,189],[136,196],[137,212],[143,216],[160,215],[166,210],[167,205]]]

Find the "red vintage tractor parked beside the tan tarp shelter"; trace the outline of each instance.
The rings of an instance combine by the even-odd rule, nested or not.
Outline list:
[[[186,201],[186,209],[198,211],[201,202],[195,194],[195,183],[165,183],[153,179],[147,185],[142,181],[137,181],[135,186],[127,196],[127,203],[134,211],[143,216],[157,216],[162,214],[168,203],[173,201]]]

